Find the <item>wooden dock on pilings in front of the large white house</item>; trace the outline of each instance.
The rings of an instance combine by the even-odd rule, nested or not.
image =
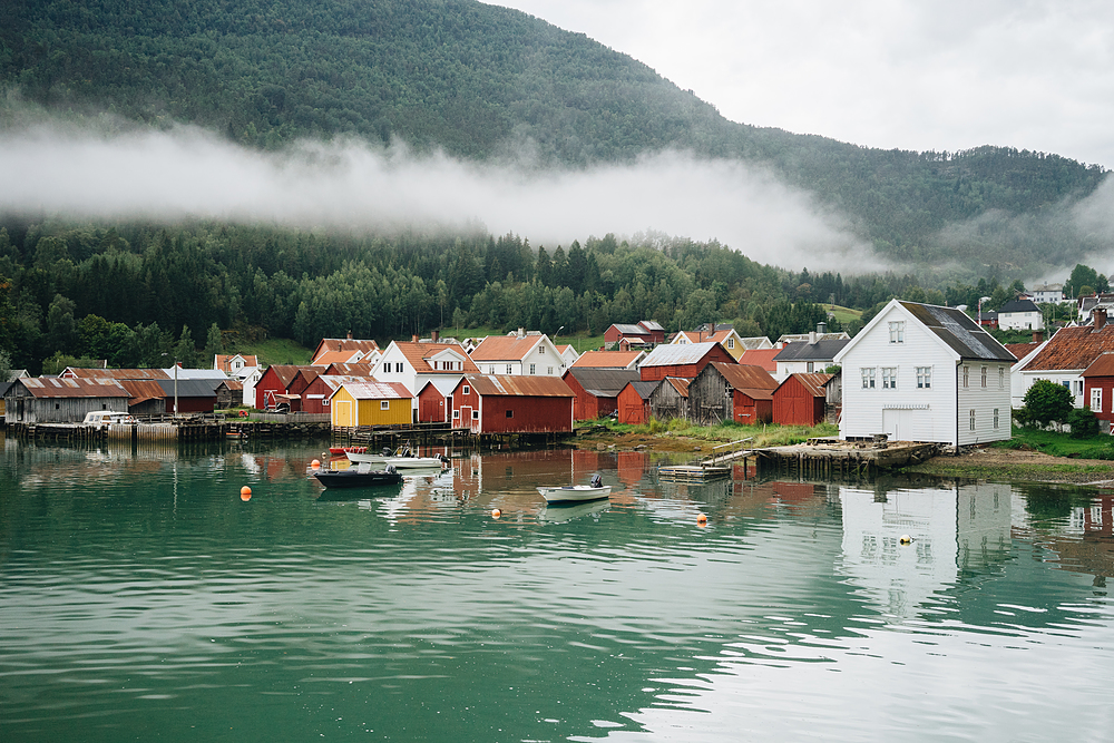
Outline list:
[[[809,439],[790,447],[758,449],[762,468],[801,477],[862,477],[879,470],[917,465],[935,456],[937,443],[887,441],[877,436],[870,441],[843,441],[834,438]]]

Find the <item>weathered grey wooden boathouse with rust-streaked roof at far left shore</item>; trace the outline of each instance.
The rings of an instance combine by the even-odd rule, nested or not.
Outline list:
[[[80,423],[95,410],[128,412],[128,391],[101,379],[21,378],[4,393],[7,423]]]

